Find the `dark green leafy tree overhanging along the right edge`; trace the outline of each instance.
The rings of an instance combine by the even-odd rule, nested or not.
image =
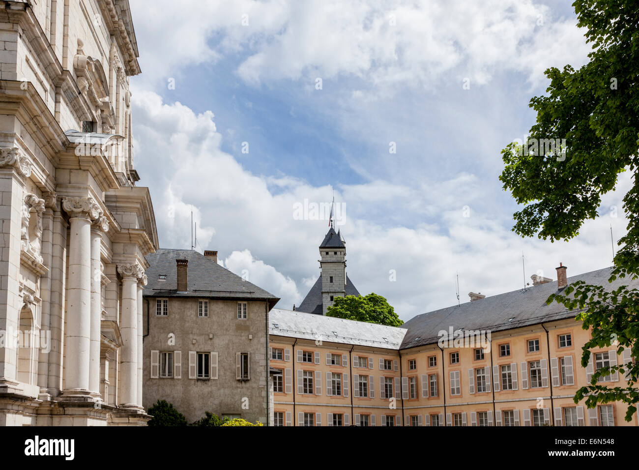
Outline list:
[[[578,26],[586,28],[592,44],[589,62],[579,70],[566,65],[549,68],[547,95],[534,97],[530,107],[536,123],[523,146],[511,143],[502,150],[505,168],[500,176],[504,189],[525,205],[514,214],[516,233],[541,239],[569,240],[578,235],[587,219],[597,217],[601,196],[613,191],[623,171],[633,172],[633,187],[623,199],[629,219],[619,243],[610,281],[639,273],[639,4],[622,0],[577,0],[573,3]],[[532,140],[531,140],[532,139]],[[566,139],[566,153],[541,148],[544,139]],[[610,291],[610,286],[608,287]],[[639,317],[634,299],[639,292],[621,286],[612,292],[604,286],[575,283],[548,299],[566,308],[585,308],[578,315],[584,329],[592,328],[592,340],[583,347],[586,366],[592,347],[631,348],[639,357]],[[597,377],[615,370],[629,372],[629,386],[596,385]],[[626,421],[639,401],[635,385],[639,364],[619,364],[601,370],[574,400],[584,396],[587,406],[615,400],[628,403]]]

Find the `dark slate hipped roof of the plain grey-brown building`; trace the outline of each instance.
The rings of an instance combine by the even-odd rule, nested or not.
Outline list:
[[[268,301],[273,308],[279,297],[244,281],[240,276],[224,269],[210,258],[193,250],[158,249],[146,256],[150,267],[146,270],[148,284],[146,297],[208,297],[212,299],[256,299]],[[178,271],[175,260],[188,260],[188,287],[178,292]],[[160,274],[166,276],[160,280]]]

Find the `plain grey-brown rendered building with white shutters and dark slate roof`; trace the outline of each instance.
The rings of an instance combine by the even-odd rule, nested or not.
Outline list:
[[[173,403],[189,423],[206,411],[272,423],[269,311],[277,297],[217,263],[217,251],[147,256],[144,407]]]

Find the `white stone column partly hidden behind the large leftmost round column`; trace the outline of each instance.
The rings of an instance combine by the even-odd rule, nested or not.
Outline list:
[[[102,322],[102,269],[100,251],[102,233],[109,231],[109,221],[98,217],[91,227],[91,346],[89,349],[89,390],[100,395],[100,324]]]

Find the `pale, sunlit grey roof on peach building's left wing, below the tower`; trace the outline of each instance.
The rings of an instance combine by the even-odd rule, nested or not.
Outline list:
[[[394,326],[325,317],[273,308],[268,313],[268,333],[289,338],[399,349],[406,330]]]

